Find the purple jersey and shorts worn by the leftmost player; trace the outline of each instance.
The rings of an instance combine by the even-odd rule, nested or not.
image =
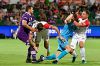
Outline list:
[[[28,12],[25,12],[21,17],[20,28],[17,36],[21,41],[27,43],[30,30],[22,25],[22,20],[27,21],[27,24],[29,24],[30,22],[34,21],[34,17],[31,16]]]

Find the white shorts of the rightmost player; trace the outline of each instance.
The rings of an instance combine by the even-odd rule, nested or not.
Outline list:
[[[76,45],[79,44],[80,41],[85,43],[85,40],[86,40],[86,35],[84,35],[84,34],[80,34],[80,35],[74,34],[73,37],[72,37],[70,47],[72,49],[75,49]]]

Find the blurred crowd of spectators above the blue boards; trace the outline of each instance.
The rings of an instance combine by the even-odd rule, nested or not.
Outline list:
[[[20,18],[25,12],[25,8],[28,4],[32,5],[34,8],[33,15],[38,21],[47,21],[50,24],[63,25],[65,18],[76,9],[82,11],[87,9],[90,12],[89,20],[91,25],[100,25],[100,3],[93,3],[92,5],[85,0],[81,0],[80,4],[74,2],[63,2],[60,0],[45,0],[41,2],[36,0],[36,2],[26,3],[17,2],[17,4],[8,4],[6,2],[0,1],[0,25],[19,25]]]

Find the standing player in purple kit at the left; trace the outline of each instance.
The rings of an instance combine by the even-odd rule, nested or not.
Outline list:
[[[36,62],[37,48],[35,46],[35,43],[32,41],[33,37],[32,32],[35,32],[36,29],[32,28],[29,25],[29,23],[34,21],[32,13],[33,13],[33,7],[28,5],[26,7],[26,12],[21,17],[20,28],[17,34],[18,39],[23,41],[26,45],[30,46],[28,48],[26,63],[31,63],[31,55],[32,55],[32,62]]]

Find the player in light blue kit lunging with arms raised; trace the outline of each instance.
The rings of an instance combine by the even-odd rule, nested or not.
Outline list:
[[[62,36],[62,38],[58,37],[58,49],[56,54],[52,54],[50,56],[44,57],[43,55],[40,56],[40,59],[38,60],[39,62],[43,61],[43,60],[53,60],[53,63],[56,64],[61,58],[63,58],[66,54],[68,54],[69,52],[72,52],[73,49],[71,49],[71,47],[68,45],[68,39],[70,37],[70,35],[73,33],[73,28],[74,25],[72,22],[68,22],[69,20],[71,20],[73,17],[73,14],[69,15],[66,20],[65,20],[65,25],[63,27],[62,32],[60,33],[60,35]]]

